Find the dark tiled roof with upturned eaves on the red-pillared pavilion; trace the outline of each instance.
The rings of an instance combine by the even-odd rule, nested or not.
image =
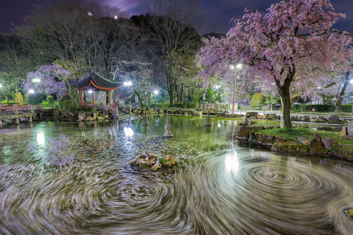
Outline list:
[[[70,81],[70,85],[73,88],[76,88],[76,89],[81,88],[82,89],[82,88],[88,86],[91,78],[92,78],[92,81],[94,82],[94,84],[96,84],[97,86],[102,87],[102,88],[115,89],[115,88],[119,87],[119,83],[112,82],[112,81],[102,77],[102,75],[98,74],[94,70],[94,68],[92,69],[91,75],[87,75],[78,81]],[[94,84],[91,84],[91,86],[94,86]],[[94,87],[96,87],[96,86],[94,86]]]

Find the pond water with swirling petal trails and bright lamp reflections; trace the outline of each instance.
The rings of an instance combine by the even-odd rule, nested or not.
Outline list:
[[[0,234],[353,234],[353,163],[236,141],[234,119],[170,119],[172,138],[166,116],[0,130]],[[140,171],[141,152],[177,165]]]

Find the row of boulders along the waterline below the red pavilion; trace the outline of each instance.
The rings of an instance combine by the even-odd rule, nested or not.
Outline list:
[[[53,112],[54,118],[62,121],[89,122],[94,120],[110,119],[112,116],[108,110],[97,110],[93,112],[69,112],[67,110],[56,110]]]

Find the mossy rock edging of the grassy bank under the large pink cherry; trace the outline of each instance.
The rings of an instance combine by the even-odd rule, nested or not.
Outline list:
[[[322,139],[319,132],[316,132],[313,137],[296,136],[298,141],[286,141],[282,136],[266,135],[259,131],[265,129],[275,129],[275,127],[269,126],[265,128],[262,126],[243,126],[240,127],[236,139],[246,140],[258,145],[270,147],[274,152],[331,153],[337,157],[353,160],[353,145],[339,145],[339,142],[331,137],[325,137]],[[323,129],[318,128],[318,130]],[[342,132],[347,131],[347,127],[331,128],[326,131],[341,131],[342,135]],[[347,134],[347,132],[345,134]]]

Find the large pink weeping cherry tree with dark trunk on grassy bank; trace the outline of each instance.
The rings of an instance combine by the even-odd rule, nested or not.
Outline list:
[[[331,30],[339,17],[345,14],[335,13],[329,0],[281,1],[266,12],[245,8],[225,37],[201,48],[199,75],[208,79],[227,73],[230,64],[248,65],[253,77],[276,84],[284,126],[291,128],[291,86],[316,78],[316,68],[332,67],[350,43],[348,33]]]

